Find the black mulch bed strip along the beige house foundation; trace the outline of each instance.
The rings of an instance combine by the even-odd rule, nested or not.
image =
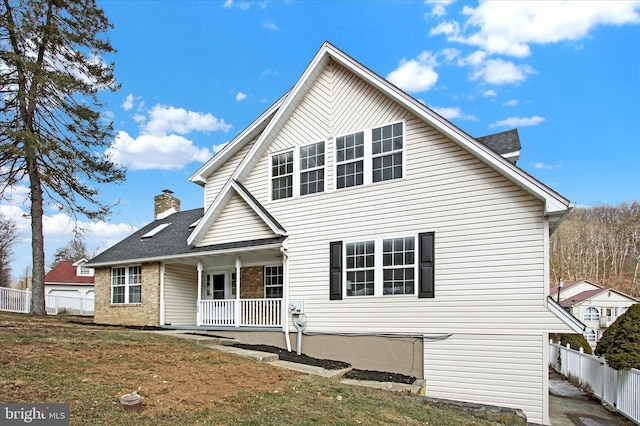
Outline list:
[[[268,345],[246,345],[243,343],[236,343],[232,345],[236,348],[250,349],[253,351],[269,352],[278,354],[278,357],[283,361],[297,362],[300,364],[313,365],[314,367],[321,367],[327,370],[341,370],[343,368],[349,368],[351,365],[342,361],[332,361],[329,359],[313,358],[305,354],[298,355],[296,352],[289,352],[286,349],[281,349],[275,346]],[[356,370],[352,369],[344,375],[345,379],[354,380],[371,380],[374,382],[394,382],[412,384],[416,381],[413,376],[405,376],[404,374],[389,373],[385,371],[371,371],[371,370]]]

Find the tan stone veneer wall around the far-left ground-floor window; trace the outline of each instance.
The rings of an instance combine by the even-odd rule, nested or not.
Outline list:
[[[142,264],[141,303],[111,303],[111,268],[96,269],[95,292],[93,317],[95,323],[136,326],[160,325],[159,263]]]

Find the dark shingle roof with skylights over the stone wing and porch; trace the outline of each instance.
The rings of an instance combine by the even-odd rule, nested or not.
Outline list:
[[[174,213],[163,219],[151,222],[113,247],[105,250],[87,263],[87,266],[114,264],[117,262],[141,261],[144,259],[184,256],[201,252],[229,250],[240,247],[255,247],[281,242],[285,237],[265,238],[260,240],[240,241],[194,247],[187,244],[187,237],[193,230],[191,225],[202,218],[204,209],[187,210]],[[143,235],[157,226],[169,223],[162,231],[151,238]]]

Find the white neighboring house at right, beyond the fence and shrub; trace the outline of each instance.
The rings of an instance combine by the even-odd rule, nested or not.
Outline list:
[[[584,337],[596,347],[605,330],[632,305],[640,302],[616,289],[589,280],[562,283],[560,298],[558,288],[551,289],[550,296],[574,317],[584,323]]]

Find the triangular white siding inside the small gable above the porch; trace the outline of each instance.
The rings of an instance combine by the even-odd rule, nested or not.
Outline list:
[[[199,246],[271,238],[275,234],[237,194],[229,200]]]

